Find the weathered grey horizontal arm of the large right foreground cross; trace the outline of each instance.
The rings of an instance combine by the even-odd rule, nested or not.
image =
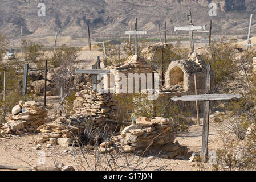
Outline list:
[[[241,98],[241,94],[202,94],[193,96],[173,97],[173,101],[214,101],[214,100],[230,100],[232,98]]]

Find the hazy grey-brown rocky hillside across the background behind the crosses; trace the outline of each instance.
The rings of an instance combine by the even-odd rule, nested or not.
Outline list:
[[[38,17],[37,5],[44,2],[46,16]],[[124,36],[138,19],[139,30],[149,31],[147,36],[158,30],[158,23],[167,22],[168,35],[174,32],[174,25],[186,23],[186,7],[192,6],[194,24],[208,24],[208,5],[216,2],[217,17],[213,19],[213,32],[216,34],[237,34],[246,36],[251,13],[256,13],[253,0],[2,0],[0,2],[0,31],[9,38],[18,38],[23,27],[23,35],[29,38],[54,36],[60,29],[60,36],[82,38],[87,36],[87,23],[90,24],[92,39]],[[162,26],[162,25],[161,25]],[[256,34],[256,15],[253,19],[252,35]]]

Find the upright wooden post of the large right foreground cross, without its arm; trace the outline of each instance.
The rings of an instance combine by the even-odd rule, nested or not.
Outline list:
[[[205,82],[205,94],[210,93],[210,63],[208,63],[207,67],[207,75]],[[205,101],[205,110],[204,110],[204,123],[202,130],[202,153],[201,158],[206,162],[208,155],[208,137],[209,137],[209,110],[210,110],[210,101]]]

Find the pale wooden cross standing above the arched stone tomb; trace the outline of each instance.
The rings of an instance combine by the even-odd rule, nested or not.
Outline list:
[[[188,6],[188,25],[185,27],[174,27],[174,31],[178,31],[178,30],[185,30],[189,32],[189,42],[190,42],[190,47],[191,47],[191,51],[194,52],[194,40],[193,40],[193,31],[194,30],[206,30],[206,25],[202,25],[202,26],[194,26],[192,24],[192,15],[191,15],[191,9],[190,6]]]

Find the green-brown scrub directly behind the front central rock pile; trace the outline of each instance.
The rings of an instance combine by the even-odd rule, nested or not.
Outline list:
[[[165,98],[163,98],[165,97]],[[124,119],[132,121],[138,117],[165,117],[172,122],[175,131],[188,129],[190,113],[181,111],[178,106],[170,106],[168,96],[159,96],[157,100],[148,100],[147,94],[116,94],[119,107],[125,110]],[[154,111],[155,104],[155,111]]]

